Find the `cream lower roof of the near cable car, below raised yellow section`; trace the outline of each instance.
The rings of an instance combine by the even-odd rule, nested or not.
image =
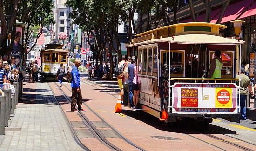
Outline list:
[[[170,42],[175,44],[206,44],[206,45],[238,45],[245,43],[243,40],[235,40],[224,38],[221,36],[216,35],[209,35],[209,34],[184,34],[160,39],[151,39],[147,41],[138,42],[135,44],[130,44],[125,47],[132,47],[132,46],[140,46],[146,44],[152,44],[156,42]]]

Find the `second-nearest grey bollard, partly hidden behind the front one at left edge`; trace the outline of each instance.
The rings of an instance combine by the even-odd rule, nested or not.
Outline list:
[[[12,90],[11,89],[3,89],[3,92],[6,96],[6,116],[5,116],[5,127],[8,127],[8,120],[11,118],[11,104],[12,104]]]

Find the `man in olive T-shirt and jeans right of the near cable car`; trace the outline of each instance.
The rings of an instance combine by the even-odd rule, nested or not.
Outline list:
[[[248,76],[246,76],[244,74],[244,68],[240,69],[240,78],[241,78],[241,89],[240,89],[240,100],[239,100],[239,95],[237,95],[237,101],[240,101],[240,109],[241,109],[241,118],[240,119],[246,119],[246,106],[245,106],[245,102],[246,102],[246,98],[247,98],[247,87],[249,88],[249,92],[251,94],[253,94],[252,92],[252,88],[251,88],[251,82]],[[237,75],[237,78],[239,77],[239,72]],[[239,82],[237,82],[237,85],[239,86]]]

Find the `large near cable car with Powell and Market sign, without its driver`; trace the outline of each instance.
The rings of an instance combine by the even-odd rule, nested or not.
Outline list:
[[[226,27],[191,22],[135,35],[125,47],[141,67],[137,71],[141,111],[167,123],[193,119],[208,126],[218,117],[239,122],[236,71],[244,41],[220,36]],[[216,50],[222,53],[222,78],[206,79]]]

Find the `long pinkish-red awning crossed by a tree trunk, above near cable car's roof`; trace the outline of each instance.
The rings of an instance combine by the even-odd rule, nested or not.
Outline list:
[[[239,0],[239,2],[229,5],[223,14],[221,23],[235,20],[241,13],[243,13],[247,7],[249,7],[253,1],[254,0]],[[221,13],[219,13],[212,21],[210,21],[210,23],[216,23],[220,17],[220,14]]]

